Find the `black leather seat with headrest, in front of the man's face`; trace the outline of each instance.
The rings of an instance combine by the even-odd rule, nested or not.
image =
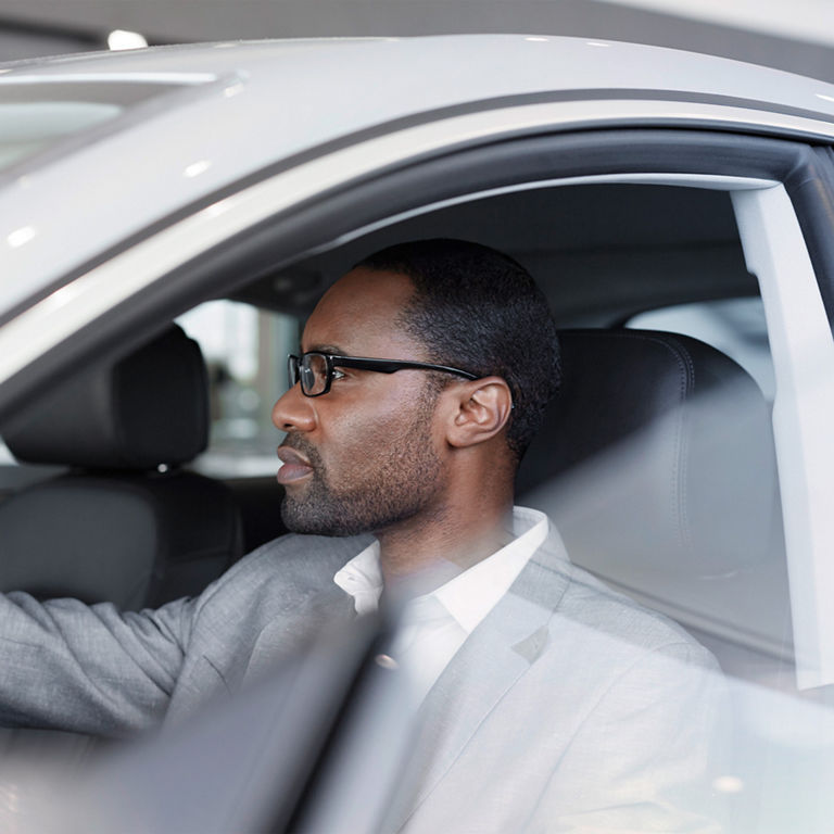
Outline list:
[[[208,419],[200,348],[174,326],[4,425],[20,460],[71,470],[0,504],[0,591],[125,609],[200,593],[242,551],[231,492],[181,468]]]

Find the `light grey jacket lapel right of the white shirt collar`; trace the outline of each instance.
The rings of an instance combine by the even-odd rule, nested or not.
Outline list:
[[[557,535],[533,554],[509,592],[469,635],[426,696],[419,740],[406,776],[399,830],[427,799],[504,694],[547,642],[547,626],[568,585],[567,556]],[[416,795],[409,787],[416,786]]]

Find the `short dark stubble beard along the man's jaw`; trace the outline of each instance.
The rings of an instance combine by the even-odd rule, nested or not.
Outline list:
[[[427,404],[425,404],[427,405]],[[386,437],[388,452],[370,457],[371,469],[340,488],[328,483],[318,451],[302,434],[289,434],[285,445],[307,457],[313,467],[303,495],[285,493],[281,519],[288,530],[317,535],[356,535],[383,530],[414,518],[435,495],[441,465],[431,444],[430,407],[420,408],[414,424],[399,437]]]

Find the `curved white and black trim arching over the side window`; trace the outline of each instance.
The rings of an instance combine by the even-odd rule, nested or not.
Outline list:
[[[505,111],[472,118],[488,115],[494,119],[490,123],[494,130],[506,130]],[[466,124],[463,117],[455,119],[459,130]],[[527,129],[545,127],[530,124]],[[415,146],[420,137],[422,142]],[[199,285],[205,287],[205,268],[215,268],[226,252],[239,258],[241,242],[271,247],[269,263],[277,266],[302,253],[337,245],[375,220],[442,200],[472,199],[494,188],[540,182],[542,174],[547,180],[566,182],[577,176],[606,181],[612,175],[661,175],[669,181],[680,175],[782,180],[807,173],[813,162],[810,149],[793,141],[696,130],[544,134],[460,150],[458,146],[467,141],[472,141],[471,135],[450,135],[443,122],[376,137],[220,197],[135,242],[0,329],[0,397],[14,396],[16,386],[9,384],[12,377],[36,361],[41,364],[41,357],[47,365],[50,355],[61,364],[65,349],[72,351],[62,342],[72,338],[77,343],[76,333],[88,332],[93,323],[99,333],[92,341],[99,341],[102,330],[111,338],[124,336],[124,327],[137,316],[122,317],[119,307],[143,306],[142,296],[152,307],[161,296],[180,292],[197,300]],[[834,261],[834,252],[831,256]],[[834,274],[834,268],[827,273]],[[241,283],[251,277],[242,274]],[[161,286],[162,278],[167,287]],[[225,283],[228,288],[231,281]],[[178,312],[174,309],[172,317]],[[108,321],[115,319],[122,320],[108,332]]]

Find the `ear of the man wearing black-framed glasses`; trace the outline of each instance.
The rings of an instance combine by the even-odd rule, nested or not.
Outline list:
[[[501,377],[483,377],[450,390],[453,413],[446,440],[456,447],[472,446],[494,438],[507,425],[513,394]]]

